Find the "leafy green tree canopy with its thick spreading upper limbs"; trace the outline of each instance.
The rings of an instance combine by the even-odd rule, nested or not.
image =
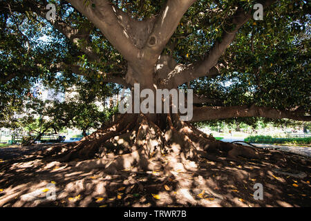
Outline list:
[[[38,79],[68,90],[82,76],[91,90],[117,93],[149,84],[150,70],[162,88],[194,89],[195,122],[309,120],[310,3],[258,2],[259,21],[250,0],[1,1],[1,124]]]

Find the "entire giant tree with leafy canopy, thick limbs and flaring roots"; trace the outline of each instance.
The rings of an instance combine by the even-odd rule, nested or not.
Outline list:
[[[46,20],[48,3],[57,6],[53,20]],[[125,88],[140,84],[140,90],[190,87],[196,104],[192,122],[232,117],[308,121],[308,4],[259,1],[265,17],[254,21],[255,3],[3,1],[1,30],[11,26],[11,32],[3,35],[12,37],[15,33],[20,41],[28,42],[28,48],[16,46],[24,48],[19,66],[25,69],[23,73],[6,66],[1,82],[8,84],[27,73],[38,77],[40,73],[50,76],[61,72],[98,77],[100,84],[115,83]],[[31,48],[32,40],[19,27],[24,19],[28,24],[48,23],[51,35],[57,35],[66,47],[58,45],[60,50],[50,53]],[[35,35],[37,29],[29,35]],[[12,39],[17,41],[17,37]],[[14,42],[15,46],[19,41]],[[296,82],[294,91],[288,89],[291,81]],[[231,86],[221,82],[230,82]],[[106,159],[106,153],[111,152],[118,155],[112,162]],[[134,165],[171,169],[182,164],[187,168],[194,166],[191,162],[198,157],[260,157],[253,148],[216,141],[191,122],[182,122],[180,115],[164,113],[115,117],[111,125],[80,142],[54,147],[48,155],[67,162],[87,160],[80,165],[101,166],[112,172]]]

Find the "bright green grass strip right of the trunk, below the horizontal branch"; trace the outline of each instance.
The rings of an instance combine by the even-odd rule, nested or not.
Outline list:
[[[257,135],[246,137],[244,141],[261,144],[311,144],[311,137],[274,138],[271,136]]]

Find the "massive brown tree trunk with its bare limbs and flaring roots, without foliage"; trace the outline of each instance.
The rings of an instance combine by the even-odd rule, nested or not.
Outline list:
[[[68,2],[87,17],[128,62],[125,76],[109,75],[100,70],[94,70],[94,73],[105,75],[105,81],[108,82],[129,88],[140,84],[141,90],[150,89],[153,92],[156,89],[178,88],[198,77],[219,75],[221,65],[217,64],[218,59],[232,43],[239,28],[252,17],[251,11],[245,12],[237,7],[236,12],[225,21],[232,24],[232,31],[223,32],[204,59],[193,64],[178,64],[172,57],[164,55],[163,50],[194,0],[169,0],[158,15],[142,21],[133,19],[110,1],[94,0],[89,5],[84,1]],[[263,5],[266,8],[272,2],[266,0]],[[66,25],[58,17],[50,23],[74,44],[79,44],[84,34],[88,36]],[[93,61],[100,62],[88,42],[78,46]],[[72,64],[57,67],[71,68],[74,73],[85,74],[79,70],[79,66]],[[208,97],[195,96],[194,102],[209,105],[195,108],[193,121],[249,116],[305,119],[293,115],[291,111],[281,112],[272,108],[221,106],[222,102]],[[156,106],[153,108],[156,109]],[[238,161],[241,160],[240,156],[260,157],[254,148],[217,141],[198,131],[190,122],[182,122],[177,113],[124,114],[111,125],[100,128],[79,142],[50,149],[48,155],[75,166],[104,168],[109,173],[133,166],[144,170],[191,169],[202,157],[222,162]]]

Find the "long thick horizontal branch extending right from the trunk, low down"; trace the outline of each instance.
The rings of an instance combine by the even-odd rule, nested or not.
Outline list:
[[[295,119],[310,121],[311,116],[301,115],[301,111],[280,111],[263,106],[205,106],[194,108],[192,122],[202,122],[211,119],[226,119],[232,117],[267,117],[271,119]]]

